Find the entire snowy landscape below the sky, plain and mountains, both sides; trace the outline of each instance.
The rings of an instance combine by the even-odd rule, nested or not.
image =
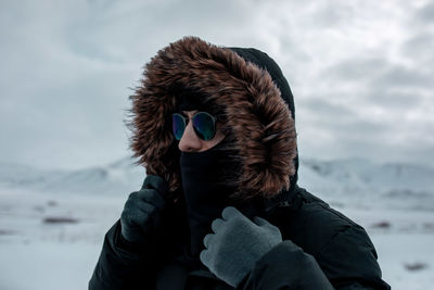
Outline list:
[[[434,169],[302,160],[299,185],[361,224],[393,289],[434,285]],[[105,231],[144,172],[128,159],[41,172],[0,164],[0,289],[87,289]]]

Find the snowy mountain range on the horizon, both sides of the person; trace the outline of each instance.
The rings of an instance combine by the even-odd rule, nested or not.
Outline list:
[[[53,193],[125,196],[140,188],[145,171],[125,157],[79,171],[38,171],[0,164],[0,187]],[[376,164],[367,160],[302,159],[298,185],[342,206],[434,210],[434,168],[417,164]]]

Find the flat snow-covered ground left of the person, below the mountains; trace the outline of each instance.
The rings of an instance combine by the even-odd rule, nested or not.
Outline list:
[[[103,236],[124,202],[124,197],[1,190],[0,289],[87,289]]]

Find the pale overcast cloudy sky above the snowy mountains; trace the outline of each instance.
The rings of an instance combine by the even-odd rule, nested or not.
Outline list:
[[[128,96],[192,35],[254,47],[295,98],[302,157],[434,162],[434,1],[1,1],[0,162],[130,155]]]

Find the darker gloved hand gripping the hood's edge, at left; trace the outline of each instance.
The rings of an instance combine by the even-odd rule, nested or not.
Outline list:
[[[120,215],[120,232],[132,243],[145,241],[161,226],[161,211],[166,202],[167,182],[159,176],[148,175],[140,191],[129,194]]]

